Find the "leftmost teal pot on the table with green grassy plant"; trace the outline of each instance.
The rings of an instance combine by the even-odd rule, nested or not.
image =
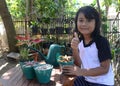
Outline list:
[[[20,66],[22,69],[22,72],[24,74],[24,76],[27,79],[34,79],[35,78],[35,72],[33,69],[33,65],[35,65],[35,61],[33,60],[33,58],[29,58],[29,49],[27,48],[22,48],[20,50]]]

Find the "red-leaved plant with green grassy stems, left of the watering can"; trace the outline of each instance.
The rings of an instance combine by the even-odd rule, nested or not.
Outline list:
[[[26,34],[25,36],[18,35],[16,36],[16,39],[18,40],[16,46],[19,47],[21,60],[29,60],[30,49],[28,47],[33,47],[33,45],[36,45],[44,41],[40,37],[40,35],[35,35],[35,36],[30,37],[29,34]]]

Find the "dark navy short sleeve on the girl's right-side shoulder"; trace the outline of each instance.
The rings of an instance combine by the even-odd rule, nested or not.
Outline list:
[[[100,62],[105,61],[107,59],[112,59],[110,45],[106,38],[98,38],[98,40],[96,41],[96,46],[98,49],[98,57]]]

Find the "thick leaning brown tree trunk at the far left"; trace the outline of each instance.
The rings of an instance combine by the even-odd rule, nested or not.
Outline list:
[[[0,15],[3,20],[6,34],[7,34],[9,51],[15,52],[18,50],[17,47],[15,46],[15,44],[17,42],[17,40],[15,39],[16,32],[15,32],[12,18],[8,11],[5,0],[0,0]]]

